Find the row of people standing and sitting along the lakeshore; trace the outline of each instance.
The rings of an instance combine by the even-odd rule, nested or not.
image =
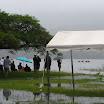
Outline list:
[[[39,57],[39,54],[35,54],[34,57],[33,57],[33,66],[34,66],[34,72],[35,73],[38,73],[38,71],[39,71],[40,62],[41,62],[41,58]],[[45,69],[48,69],[50,71],[51,62],[52,61],[51,61],[50,55],[48,55],[48,58],[46,56],[46,58],[44,59],[44,72],[45,72]],[[62,61],[57,60],[57,63],[58,63],[59,72],[60,72]],[[7,56],[6,59],[4,57],[2,57],[0,59],[0,71],[2,73],[3,73],[3,70],[5,71],[5,73],[4,73],[5,77],[8,77],[9,67],[11,68],[12,72],[15,72],[15,71],[30,72],[31,71],[31,68],[27,64],[26,64],[25,67],[23,67],[22,63],[19,63],[18,69],[16,69],[14,61],[11,62],[11,60],[9,59],[9,56]]]

